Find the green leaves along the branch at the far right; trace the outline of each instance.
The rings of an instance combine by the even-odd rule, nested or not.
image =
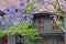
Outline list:
[[[65,2],[66,2],[66,0],[64,0]],[[59,3],[58,3],[58,0],[55,0],[54,2],[53,2],[53,4],[56,7],[55,8],[55,14],[56,15],[61,15],[62,14],[62,9],[61,9],[61,6],[59,6]],[[62,21],[57,21],[57,25],[58,26],[62,26]],[[63,26],[62,26],[63,28]],[[64,29],[66,29],[66,26],[64,28]]]

